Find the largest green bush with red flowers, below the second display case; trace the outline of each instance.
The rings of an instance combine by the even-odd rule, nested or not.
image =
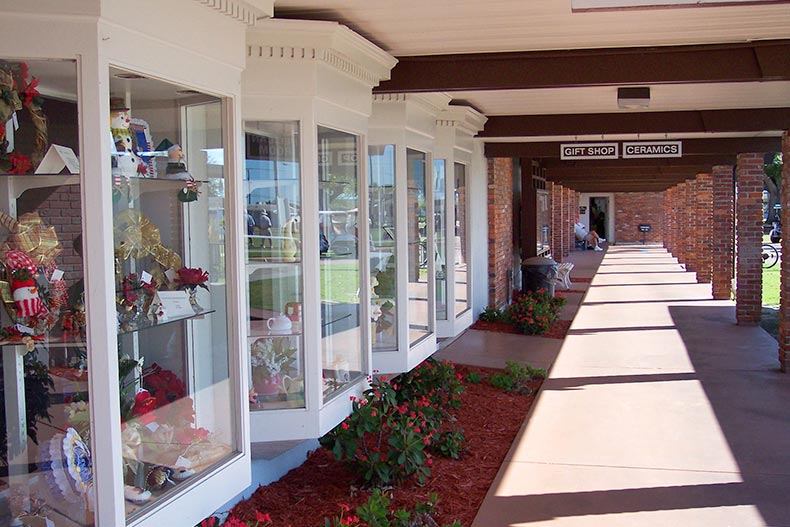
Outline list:
[[[461,374],[449,362],[426,361],[393,382],[371,380],[352,413],[320,439],[365,482],[390,485],[415,477],[423,483],[433,463],[431,452],[460,455],[465,438],[442,436],[448,409],[458,408]]]

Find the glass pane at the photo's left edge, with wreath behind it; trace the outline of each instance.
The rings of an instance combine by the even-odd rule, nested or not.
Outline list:
[[[0,525],[93,525],[81,175],[40,166],[80,154],[77,67],[0,60],[0,91]]]

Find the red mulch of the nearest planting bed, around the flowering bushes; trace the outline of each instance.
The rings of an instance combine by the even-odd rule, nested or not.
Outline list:
[[[456,368],[464,375],[469,371],[494,371],[461,365]],[[435,456],[424,486],[406,482],[390,490],[391,508],[411,508],[436,493],[436,521],[440,525],[456,519],[466,527],[472,524],[535,396],[514,395],[485,383],[465,384],[462,406],[454,412],[467,439],[463,457],[452,460]],[[538,381],[532,386],[535,392],[540,384]],[[339,513],[338,503],[348,504],[352,510],[364,503],[369,493],[360,490],[361,486],[331,452],[321,448],[279,481],[259,487],[248,500],[236,505],[231,515],[251,519],[259,510],[271,515],[275,527],[318,527],[324,524],[324,517]]]

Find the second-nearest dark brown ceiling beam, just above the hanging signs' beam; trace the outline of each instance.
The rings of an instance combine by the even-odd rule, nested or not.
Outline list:
[[[786,130],[790,108],[492,116],[478,137]]]

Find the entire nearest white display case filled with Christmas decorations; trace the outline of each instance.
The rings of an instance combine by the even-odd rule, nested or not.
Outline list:
[[[238,100],[244,31],[266,13],[244,2],[227,7],[66,0],[3,12],[3,58],[27,63],[45,100],[45,151],[65,146],[79,161],[78,171],[54,156],[54,165],[42,163],[50,175],[0,176],[1,210],[40,231],[41,247],[51,244],[52,227],[61,246],[54,263],[37,266],[48,282],[41,285],[61,297],[68,290],[57,305],[57,295],[42,297],[54,320],[25,321],[36,326],[31,353],[52,379],[44,382],[52,417],[39,422],[38,444],[7,423],[15,462],[0,499],[9,500],[9,521],[194,525],[249,484],[244,323],[224,306],[246,302],[236,271]],[[149,16],[131,22],[135,12]],[[111,98],[114,110],[130,108],[128,123],[116,126],[125,119],[111,112]],[[168,170],[179,156],[168,159],[164,139],[180,145],[194,180]],[[47,216],[52,204],[63,214]],[[56,269],[64,274],[53,277]],[[23,290],[15,281],[11,290]],[[16,358],[26,347],[6,344],[4,381],[13,393],[4,390],[4,408],[19,418],[32,401],[24,392],[31,367]]]

